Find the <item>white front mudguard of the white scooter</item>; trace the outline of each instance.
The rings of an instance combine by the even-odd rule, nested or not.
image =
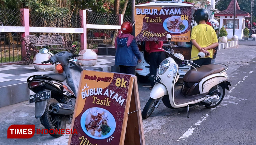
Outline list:
[[[166,86],[161,83],[155,84],[155,86],[152,88],[152,91],[150,92],[150,97],[152,99],[157,99],[164,95],[168,95],[168,92]]]

